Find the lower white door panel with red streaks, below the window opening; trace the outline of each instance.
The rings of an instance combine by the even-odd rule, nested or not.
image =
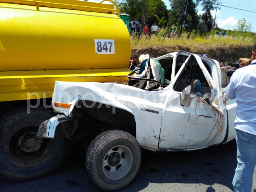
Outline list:
[[[166,100],[159,150],[205,148],[224,140],[224,116],[202,98],[193,96],[188,107],[179,105],[179,92]]]

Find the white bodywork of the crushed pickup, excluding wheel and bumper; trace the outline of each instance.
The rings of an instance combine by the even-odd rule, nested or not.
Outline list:
[[[184,53],[184,55],[189,54]],[[179,62],[181,67],[179,66],[180,69],[176,74],[177,53],[160,58],[167,56],[173,58],[173,70],[170,85],[162,90],[147,91],[113,83],[56,81],[52,105],[54,106],[54,102],[61,102],[71,104],[71,107],[67,109],[53,107],[54,112],[72,117],[72,110],[80,100],[126,110],[134,116],[136,139],[140,146],[150,150],[196,150],[220,144],[226,136],[228,123],[230,128],[227,141],[234,139],[234,126],[231,126],[231,123],[234,124],[236,104],[234,100],[223,101],[221,72],[217,64],[209,58],[200,58],[195,54],[190,56],[196,59],[200,67],[198,69],[208,83],[208,92],[211,92],[213,100],[212,104],[208,104],[199,96],[190,95],[190,105],[182,106],[181,92],[174,91],[174,84],[185,64],[181,66],[182,62]],[[186,63],[188,61],[189,58]],[[206,62],[210,65],[212,76],[208,72],[209,69],[204,66]]]

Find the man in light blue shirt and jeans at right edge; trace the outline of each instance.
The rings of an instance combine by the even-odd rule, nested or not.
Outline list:
[[[225,90],[226,96],[236,98],[237,104],[234,125],[238,164],[232,182],[234,192],[251,192],[256,164],[256,42],[251,54],[251,64],[236,70]]]

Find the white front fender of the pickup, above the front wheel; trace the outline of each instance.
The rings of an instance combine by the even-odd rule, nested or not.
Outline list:
[[[135,118],[136,139],[139,144],[156,150],[165,98],[166,90],[146,91],[122,84],[56,81],[52,104],[72,104],[70,109],[54,107],[54,112],[64,113],[66,116],[72,116],[72,108],[78,100],[100,102],[126,110]]]

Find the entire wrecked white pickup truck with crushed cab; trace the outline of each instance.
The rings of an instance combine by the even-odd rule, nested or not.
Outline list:
[[[52,106],[58,115],[43,122],[37,136],[51,139],[62,130],[67,139],[84,144],[87,172],[102,190],[132,181],[140,148],[197,150],[234,139],[236,100],[223,94],[228,80],[220,65],[187,52],[157,60],[165,83],[152,58],[142,74],[128,75],[134,86],[56,81]],[[194,93],[198,81],[199,94]]]

